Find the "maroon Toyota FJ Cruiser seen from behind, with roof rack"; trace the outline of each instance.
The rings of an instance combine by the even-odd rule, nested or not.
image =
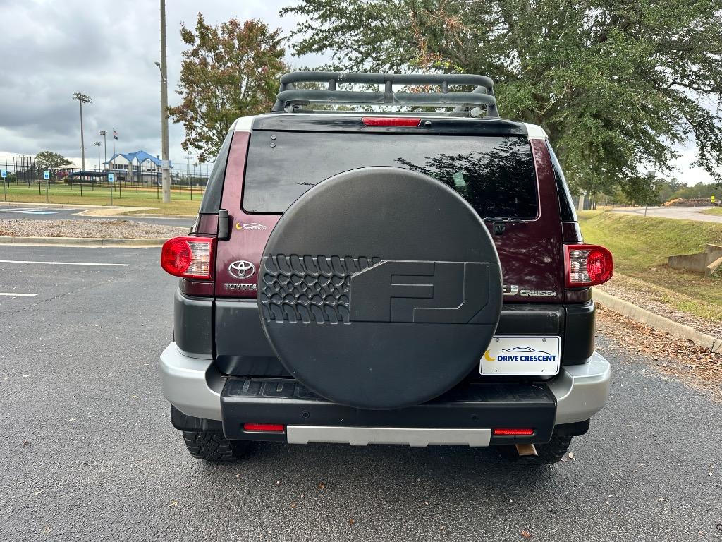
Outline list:
[[[591,285],[612,256],[583,244],[547,135],[500,119],[488,77],[284,75],[161,264],[181,278],[162,390],[200,459],[266,440],[552,463],[606,402]]]

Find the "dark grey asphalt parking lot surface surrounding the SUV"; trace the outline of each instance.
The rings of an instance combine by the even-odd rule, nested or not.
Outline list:
[[[1,541],[722,541],[722,405],[604,337],[610,403],[551,468],[461,447],[193,460],[158,384],[158,255],[0,246]]]

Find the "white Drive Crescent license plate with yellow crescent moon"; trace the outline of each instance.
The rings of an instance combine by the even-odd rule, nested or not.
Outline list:
[[[493,337],[484,352],[481,374],[557,374],[562,353],[561,337]]]

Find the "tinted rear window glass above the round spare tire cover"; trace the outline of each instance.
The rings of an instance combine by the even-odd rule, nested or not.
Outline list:
[[[373,165],[426,173],[464,196],[482,218],[538,215],[526,137],[398,133],[253,132],[243,209],[282,213],[324,179]]]

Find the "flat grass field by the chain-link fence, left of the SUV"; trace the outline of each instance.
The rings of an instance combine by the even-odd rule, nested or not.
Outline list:
[[[113,205],[123,205],[127,207],[154,207],[153,210],[139,211],[158,213],[162,215],[195,215],[201,202],[200,190],[193,191],[193,199],[191,193],[186,187],[183,192],[178,193],[178,189],[171,189],[170,203],[163,204],[158,199],[155,187],[149,189],[132,188],[131,186],[123,186],[121,194],[118,190],[113,193]],[[161,194],[162,197],[162,194]],[[4,192],[0,186],[0,201],[4,201]],[[38,186],[30,186],[27,184],[8,184],[7,199],[9,202],[29,202],[29,203],[61,203],[65,205],[110,205],[110,190],[105,187],[83,186],[82,196],[80,195],[80,187],[76,184],[69,186],[66,184],[51,184],[48,196],[45,195],[45,187],[42,186],[38,193]]]

